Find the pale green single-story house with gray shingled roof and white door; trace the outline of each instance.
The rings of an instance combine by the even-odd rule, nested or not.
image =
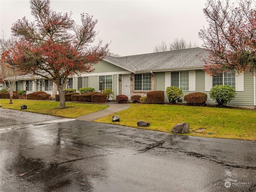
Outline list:
[[[98,92],[100,88],[110,88],[115,99],[118,94],[124,94],[128,98],[133,95],[146,96],[149,91],[166,91],[168,86],[177,86],[182,89],[184,96],[192,92],[204,92],[208,94],[207,103],[215,104],[210,99],[210,89],[216,84],[228,84],[237,93],[236,98],[228,104],[256,106],[255,76],[244,72],[211,77],[202,70],[204,62],[198,56],[207,57],[208,53],[203,48],[190,48],[124,57],[106,56],[95,66],[94,72],[69,78],[67,87],[76,90],[93,87]],[[100,79],[103,80],[102,84]],[[40,81],[42,80],[36,79],[36,83],[32,82],[32,91],[38,90],[36,84],[40,84]],[[45,87],[43,90],[45,91]],[[55,94],[52,90],[52,95]],[[184,102],[183,97],[179,102]]]

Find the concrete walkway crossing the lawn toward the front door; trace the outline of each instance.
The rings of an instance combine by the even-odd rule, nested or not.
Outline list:
[[[102,104],[102,103],[101,103]],[[130,108],[131,106],[128,104],[118,104],[117,102],[107,102],[104,103],[103,105],[108,105],[109,107],[104,109],[104,110],[100,110],[100,111],[96,111],[90,114],[86,114],[80,117],[75,118],[76,120],[83,120],[83,121],[93,121],[96,120],[98,118],[116,113],[118,111],[122,111],[125,109]]]

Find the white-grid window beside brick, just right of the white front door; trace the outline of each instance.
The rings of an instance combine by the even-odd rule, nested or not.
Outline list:
[[[151,91],[151,74],[134,74],[135,91]]]

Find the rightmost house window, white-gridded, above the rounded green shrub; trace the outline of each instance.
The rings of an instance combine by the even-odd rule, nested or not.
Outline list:
[[[236,88],[236,73],[228,72],[212,78],[212,86],[214,85],[230,85],[232,88]]]

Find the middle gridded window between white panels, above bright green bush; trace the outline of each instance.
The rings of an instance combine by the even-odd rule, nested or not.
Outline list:
[[[182,91],[189,90],[189,72],[180,71],[171,73],[171,86],[179,87]]]

